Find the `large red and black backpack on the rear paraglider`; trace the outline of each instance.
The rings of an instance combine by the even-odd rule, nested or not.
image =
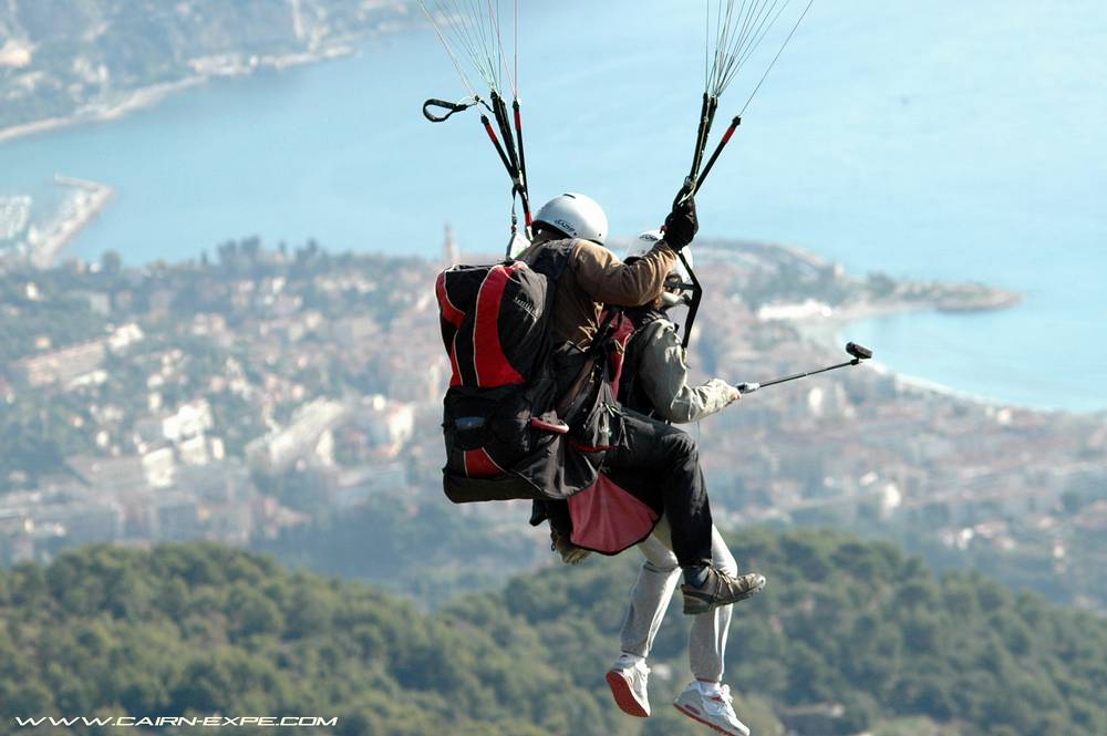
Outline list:
[[[443,471],[452,500],[541,495],[532,485],[520,487],[511,470],[568,431],[554,410],[549,355],[557,280],[570,252],[567,242],[534,267],[508,260],[438,274],[442,340],[452,369],[443,402]]]

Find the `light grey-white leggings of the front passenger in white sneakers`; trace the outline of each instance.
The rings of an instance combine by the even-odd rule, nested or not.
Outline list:
[[[630,608],[620,634],[621,647],[628,654],[646,657],[665,618],[669,601],[676,590],[681,568],[673,553],[673,543],[665,517],[658,522],[653,533],[638,548],[645,557],[638,580],[630,594]],[[715,527],[711,528],[711,563],[727,574],[737,574],[738,568],[731,550]],[[726,652],[726,633],[731,628],[731,605],[692,616],[689,635],[689,664],[697,680],[720,682],[723,677],[723,655]]]

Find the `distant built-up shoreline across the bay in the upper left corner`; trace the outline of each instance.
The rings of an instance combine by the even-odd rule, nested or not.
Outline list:
[[[158,17],[164,32],[135,46],[127,10],[122,0],[66,12],[41,2],[0,6],[0,141],[113,120],[211,79],[349,55],[411,15],[397,0],[182,0]],[[65,38],[81,42],[58,43]]]

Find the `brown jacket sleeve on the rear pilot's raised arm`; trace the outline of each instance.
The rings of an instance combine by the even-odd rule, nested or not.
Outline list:
[[[603,246],[588,240],[577,242],[569,267],[580,288],[604,304],[639,307],[656,299],[676,262],[676,256],[664,240],[629,265]]]

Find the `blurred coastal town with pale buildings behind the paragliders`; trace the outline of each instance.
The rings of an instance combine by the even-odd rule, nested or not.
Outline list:
[[[462,258],[447,231],[443,260]],[[711,267],[690,363],[733,383],[840,360],[852,314],[1016,298],[857,277],[768,243],[707,241],[697,259]],[[448,374],[430,287],[442,266],[250,238],[176,266],[107,253],[11,268],[0,561],[91,541],[249,546],[375,497],[446,504]],[[1058,595],[1105,604],[1093,592],[1107,589],[1103,416],[976,402],[867,363],[752,394],[690,431],[724,528],[903,536],[1030,577],[1066,571]],[[514,505],[475,512],[521,532]]]

